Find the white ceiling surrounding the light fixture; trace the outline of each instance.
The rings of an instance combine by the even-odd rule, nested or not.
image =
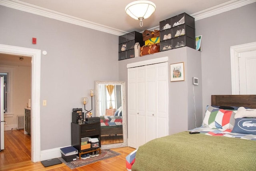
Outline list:
[[[4,0],[5,1],[5,0]],[[17,0],[12,0],[16,1]],[[20,0],[82,20],[102,24],[124,32],[142,32],[159,26],[159,22],[186,12],[194,14],[230,0],[151,0],[156,12],[143,20],[143,27],[125,13],[125,7],[134,0]],[[241,1],[231,0],[230,2]]]

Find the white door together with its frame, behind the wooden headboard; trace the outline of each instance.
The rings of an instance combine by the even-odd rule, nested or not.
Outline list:
[[[256,42],[230,47],[232,94],[255,94]],[[251,79],[252,78],[252,79]]]

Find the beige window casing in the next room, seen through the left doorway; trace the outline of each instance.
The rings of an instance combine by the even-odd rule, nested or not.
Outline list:
[[[4,76],[4,114],[12,113],[12,78],[13,68],[0,67],[0,76]]]

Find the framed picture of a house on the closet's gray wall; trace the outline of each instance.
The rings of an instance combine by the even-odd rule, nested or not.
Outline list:
[[[171,82],[184,81],[184,62],[170,64]]]

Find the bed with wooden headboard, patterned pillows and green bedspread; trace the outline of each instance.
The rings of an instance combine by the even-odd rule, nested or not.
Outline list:
[[[126,167],[132,171],[256,170],[255,140],[256,95],[212,95],[201,127],[145,143],[126,157]]]

